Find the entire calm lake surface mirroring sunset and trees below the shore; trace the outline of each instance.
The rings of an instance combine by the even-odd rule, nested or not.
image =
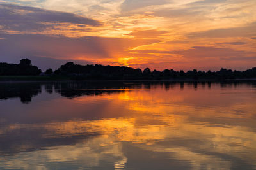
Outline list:
[[[1,83],[0,169],[255,169],[255,83]]]

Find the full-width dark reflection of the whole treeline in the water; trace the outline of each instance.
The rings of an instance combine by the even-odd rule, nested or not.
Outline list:
[[[19,97],[22,103],[28,104],[33,96],[42,92],[42,86],[47,93],[57,92],[63,97],[74,99],[77,96],[100,96],[103,94],[113,94],[124,92],[128,89],[154,89],[165,88],[166,90],[180,87],[184,89],[184,85],[193,87],[207,87],[210,89],[211,84],[220,85],[221,88],[237,87],[241,83],[248,86],[256,87],[253,81],[74,81],[74,82],[58,82],[58,83],[0,83],[0,99],[10,99]]]

